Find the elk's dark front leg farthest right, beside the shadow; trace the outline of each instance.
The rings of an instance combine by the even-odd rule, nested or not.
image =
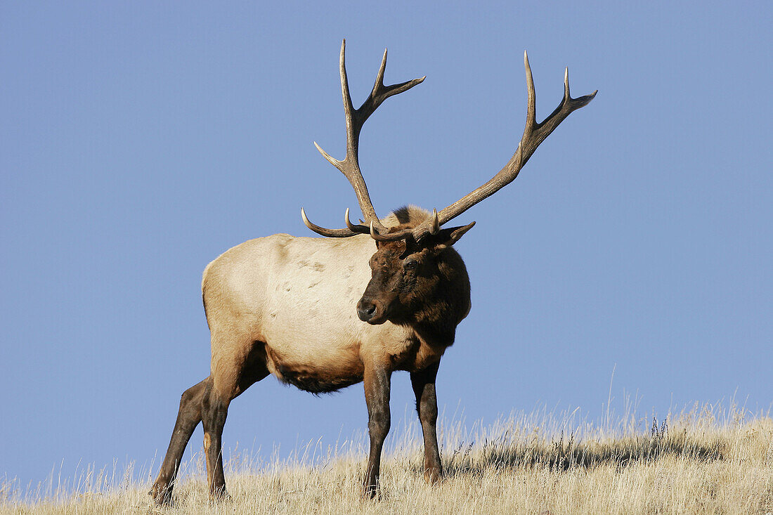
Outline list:
[[[424,433],[424,479],[434,484],[438,482],[443,467],[438,449],[438,397],[435,396],[435,377],[438,376],[440,362],[424,370],[410,373],[410,383],[416,394],[416,411],[421,421],[421,431]]]

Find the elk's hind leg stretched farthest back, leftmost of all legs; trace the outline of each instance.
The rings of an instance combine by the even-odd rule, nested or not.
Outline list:
[[[161,469],[158,471],[158,478],[149,492],[155,503],[169,504],[172,502],[172,488],[174,488],[177,472],[180,469],[182,454],[186,450],[193,430],[201,421],[202,401],[208,383],[209,378],[190,387],[180,397],[180,408],[175,428],[172,431],[172,438],[169,441],[169,448],[164,456]]]

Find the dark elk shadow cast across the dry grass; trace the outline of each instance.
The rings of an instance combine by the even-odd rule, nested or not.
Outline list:
[[[492,469],[531,469],[547,467],[557,472],[594,469],[614,465],[618,469],[635,463],[654,462],[671,455],[679,459],[707,462],[724,459],[726,444],[719,439],[703,439],[687,431],[671,434],[665,425],[653,427],[652,435],[618,438],[604,442],[575,442],[574,435],[551,442],[509,439],[502,436],[482,447],[474,444],[455,449],[444,459],[447,476],[482,473]],[[417,470],[421,466],[416,467]]]

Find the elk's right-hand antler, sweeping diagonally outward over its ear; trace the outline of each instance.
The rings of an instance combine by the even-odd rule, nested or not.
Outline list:
[[[536,122],[536,108],[535,108],[535,94],[534,94],[534,80],[532,78],[531,67],[529,66],[529,57],[526,56],[526,52],[523,53],[523,66],[526,67],[526,87],[529,91],[529,101],[526,109],[526,128],[523,129],[523,137],[518,144],[516,153],[512,156],[509,162],[504,168],[489,179],[484,185],[478,187],[474,191],[463,196],[455,203],[451,204],[441,210],[440,213],[434,213],[433,217],[424,220],[421,224],[413,229],[405,229],[390,234],[380,234],[379,240],[401,240],[412,235],[417,241],[426,237],[427,234],[434,234],[437,231],[437,227],[442,225],[448,220],[458,217],[461,213],[475,206],[481,200],[492,196],[498,192],[504,186],[507,186],[512,182],[518,173],[523,168],[523,165],[529,161],[529,158],[534,153],[536,148],[540,146],[545,138],[547,138],[555,128],[558,127],[562,121],[564,121],[572,111],[576,111],[580,107],[587,105],[598,93],[595,90],[589,95],[584,97],[572,98],[569,94],[569,69],[564,72],[564,99],[561,100],[558,107],[543,120],[541,123]]]

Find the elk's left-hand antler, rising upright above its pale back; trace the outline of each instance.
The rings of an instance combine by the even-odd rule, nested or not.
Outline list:
[[[370,201],[368,195],[368,187],[363,179],[363,172],[359,169],[359,131],[362,130],[363,124],[368,117],[376,111],[383,101],[392,95],[402,93],[410,90],[411,87],[421,84],[426,77],[420,79],[409,80],[401,84],[393,84],[391,86],[384,86],[384,70],[386,70],[386,49],[384,50],[383,58],[381,59],[381,67],[379,73],[376,75],[376,83],[373,84],[373,91],[370,92],[368,98],[359,109],[355,109],[352,105],[352,97],[349,95],[349,80],[346,78],[346,39],[341,43],[341,57],[339,60],[339,67],[341,71],[341,94],[343,97],[343,110],[346,115],[346,158],[343,161],[332,158],[327,152],[322,150],[315,142],[314,145],[317,150],[327,159],[335,168],[339,169],[346,179],[349,179],[349,183],[354,188],[357,194],[357,201],[359,202],[359,209],[363,211],[363,217],[365,221],[372,225],[378,233],[386,233],[386,228],[381,224],[379,217],[376,216],[376,210],[373,209],[373,203]],[[349,221],[349,210],[346,210],[346,229],[325,229],[319,227],[315,223],[312,223],[306,217],[306,213],[301,207],[301,218],[306,227],[313,230],[317,234],[328,237],[349,237],[355,234],[369,234],[371,229],[368,225],[355,225]]]

